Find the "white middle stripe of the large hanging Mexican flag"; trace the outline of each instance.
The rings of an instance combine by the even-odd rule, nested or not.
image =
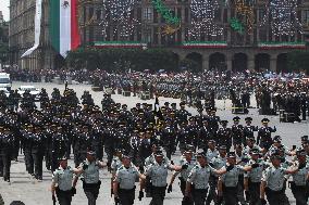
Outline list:
[[[60,54],[66,56],[66,52],[71,50],[71,0],[69,5],[64,5],[64,0],[60,3]]]

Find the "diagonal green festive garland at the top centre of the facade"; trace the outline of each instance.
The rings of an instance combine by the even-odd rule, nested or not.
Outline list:
[[[164,5],[162,0],[152,0],[152,4],[168,24],[178,25],[181,23],[181,20],[172,14],[171,10]]]

